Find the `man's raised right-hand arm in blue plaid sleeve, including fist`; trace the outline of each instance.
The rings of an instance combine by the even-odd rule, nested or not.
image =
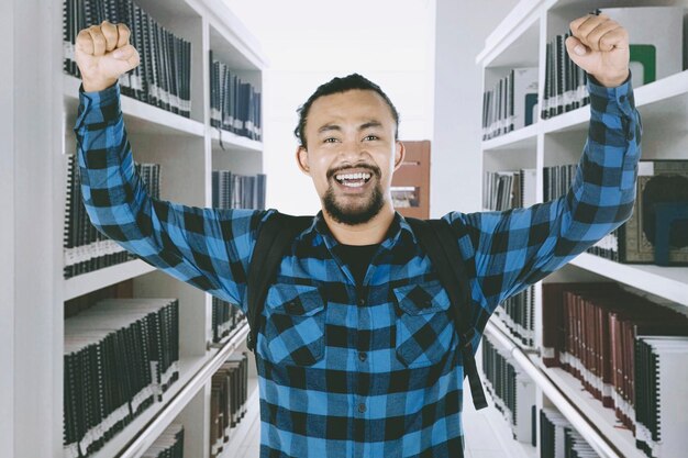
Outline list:
[[[628,67],[628,34],[604,15],[577,19],[572,32],[568,53],[590,77],[590,126],[568,193],[528,209],[445,216],[468,227],[469,242],[462,247],[475,256],[488,313],[585,252],[633,210],[642,129]],[[575,51],[578,46],[584,54]]]

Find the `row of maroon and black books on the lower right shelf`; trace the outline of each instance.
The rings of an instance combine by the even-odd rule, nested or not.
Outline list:
[[[664,371],[657,371],[648,364],[646,354],[643,358],[637,350],[641,338],[654,343],[666,336],[688,336],[687,315],[621,290],[617,283],[543,283],[542,310],[546,366],[562,367],[580,380],[602,405],[614,410],[639,440],[648,438],[646,434],[639,435],[641,431],[657,432],[666,425],[663,447],[651,446],[651,456],[677,456],[657,451],[675,449],[676,444],[688,447],[688,437],[672,436],[668,425],[669,418],[674,422],[688,409],[688,396],[676,395],[680,390],[657,391],[675,387],[673,380],[686,380],[686,338],[673,344],[681,348],[680,355],[667,356],[673,365]],[[658,394],[658,399],[647,400]],[[670,399],[670,405],[662,401],[662,395]],[[647,423],[648,412],[654,420]],[[662,418],[666,422],[657,424]],[[656,437],[650,435],[653,440]]]

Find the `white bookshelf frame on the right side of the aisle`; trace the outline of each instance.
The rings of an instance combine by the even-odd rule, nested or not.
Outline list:
[[[609,1],[603,8],[618,7],[681,7],[686,0]],[[482,89],[507,76],[511,68],[539,68],[539,101],[543,100],[546,44],[568,30],[568,23],[590,9],[598,8],[584,0],[521,0],[486,38],[476,63],[482,68]],[[684,19],[687,29],[688,11]],[[623,25],[623,24],[622,24]],[[685,68],[685,67],[683,67]],[[635,87],[635,104],[643,122],[642,150],[644,159],[688,159],[688,70],[659,78]],[[484,171],[535,168],[537,171],[536,200],[543,201],[543,168],[578,161],[587,137],[590,120],[589,105],[543,120],[540,116],[526,127],[481,142]],[[640,294],[653,295],[674,303],[674,309],[688,313],[688,268],[655,265],[613,262],[590,254],[581,254],[569,266],[555,273],[557,281],[613,280]],[[551,278],[544,281],[552,281]],[[542,283],[535,286],[535,343],[542,347]],[[512,353],[519,353],[518,364],[532,375],[537,384],[536,407],[555,405],[582,434],[602,457],[644,457],[635,447],[630,431],[619,427],[614,413],[601,403],[568,372],[547,368],[537,353],[529,351],[513,338],[506,327],[492,320],[486,333],[502,342],[509,340]],[[491,411],[491,409],[490,409]],[[503,422],[503,420],[502,420]],[[499,421],[496,421],[499,423]],[[500,428],[496,428],[497,432]],[[513,456],[540,456],[540,446],[530,447],[511,440]],[[540,444],[540,431],[537,431]],[[530,447],[530,450],[528,449]],[[524,448],[526,449],[524,451]]]

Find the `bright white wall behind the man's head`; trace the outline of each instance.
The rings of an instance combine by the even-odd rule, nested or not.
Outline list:
[[[400,112],[401,139],[432,137],[434,0],[225,0],[258,38],[265,71],[267,206],[312,214],[320,200],[296,165],[296,109],[323,82],[359,72]]]

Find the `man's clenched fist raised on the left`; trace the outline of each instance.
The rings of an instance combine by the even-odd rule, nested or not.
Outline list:
[[[129,44],[129,27],[103,21],[77,35],[75,58],[81,71],[84,90],[100,91],[138,65],[138,52]]]

